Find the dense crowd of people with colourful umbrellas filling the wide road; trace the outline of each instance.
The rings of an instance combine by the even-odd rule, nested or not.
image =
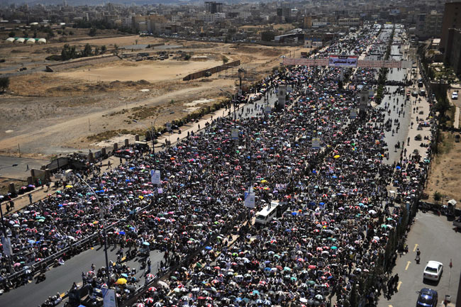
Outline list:
[[[368,44],[382,43],[374,35],[364,28],[341,40],[340,48],[360,54]],[[374,302],[379,284],[385,284],[377,268],[389,261],[384,250],[402,214],[390,206],[387,186],[394,182],[412,199],[424,178],[416,157],[382,163],[387,156],[382,109],[350,118],[359,105],[356,89],[376,77],[374,69],[350,73],[352,86],[340,87],[340,69],[334,67],[275,72],[256,91],[265,96],[276,94],[279,84],[292,86],[283,112],[263,113],[264,103],[256,101],[251,108],[258,116],[242,110],[236,120],[216,118],[203,133],[191,133],[155,155],[134,155],[113,169],[82,173],[96,196],[74,179],[55,195],[6,216],[13,255],[1,255],[0,276],[5,281],[13,272],[30,271],[30,264],[91,235],[94,240],[84,247],[102,244],[101,203],[111,225],[109,245],[127,248],[131,257],[146,247],[160,250],[161,271],[181,264],[165,285],[146,291],[140,304],[326,306],[335,296],[341,306],[363,274],[376,274],[373,287],[360,293]],[[238,140],[231,138],[235,128]],[[321,149],[312,146],[317,139]],[[160,170],[160,185],[152,184],[153,169]],[[252,210],[243,206],[249,186],[256,195]],[[287,203],[287,211],[265,227],[252,227],[255,213],[271,201]],[[126,217],[126,223],[113,222]],[[91,272],[82,276],[85,283],[92,289],[107,286],[106,268]],[[109,274],[109,286],[125,285],[118,286],[119,299],[128,298],[133,289],[127,287],[138,282],[133,268],[118,259]]]

